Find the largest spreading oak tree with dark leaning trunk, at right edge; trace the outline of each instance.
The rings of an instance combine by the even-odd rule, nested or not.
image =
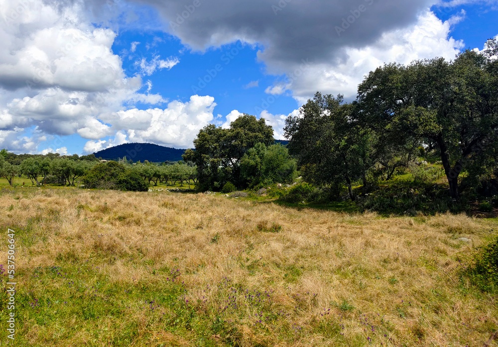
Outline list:
[[[497,66],[487,52],[470,50],[452,62],[434,58],[408,66],[386,64],[359,86],[361,115],[399,138],[437,148],[450,194],[459,199],[460,173],[483,167],[482,157],[496,144]]]

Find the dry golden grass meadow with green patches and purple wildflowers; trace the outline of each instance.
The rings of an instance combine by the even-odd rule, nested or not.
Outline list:
[[[7,228],[15,346],[482,346],[498,326],[497,297],[460,275],[496,220],[16,188],[4,267]]]

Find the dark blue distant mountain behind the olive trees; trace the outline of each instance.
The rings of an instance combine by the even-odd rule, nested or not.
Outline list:
[[[103,149],[94,154],[97,158],[102,157],[102,159],[106,160],[117,160],[118,158],[126,157],[127,160],[141,162],[148,160],[161,163],[182,160],[183,153],[185,153],[185,149],[164,147],[153,143],[125,143]]]

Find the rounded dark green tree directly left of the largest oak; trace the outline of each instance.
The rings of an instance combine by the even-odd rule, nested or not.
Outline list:
[[[388,142],[358,121],[360,111],[357,103],[344,104],[342,95],[316,93],[301,108],[301,116],[288,117],[285,126],[289,152],[305,179],[317,185],[345,183],[353,201],[353,182],[362,179],[368,187],[367,174]]]

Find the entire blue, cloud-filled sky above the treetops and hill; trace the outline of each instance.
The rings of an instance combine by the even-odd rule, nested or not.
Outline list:
[[[192,146],[248,113],[283,138],[316,91],[386,62],[482,49],[494,0],[0,0],[0,148]]]

